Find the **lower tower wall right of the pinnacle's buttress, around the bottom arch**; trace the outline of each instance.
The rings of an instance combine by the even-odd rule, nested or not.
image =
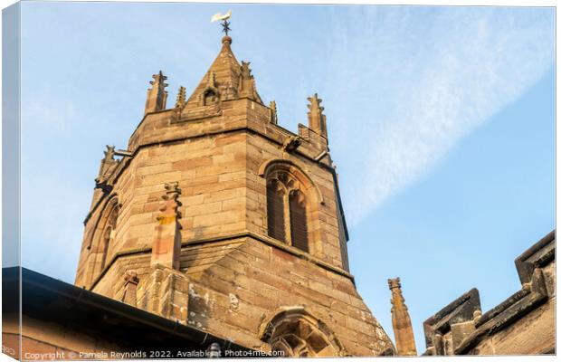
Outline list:
[[[342,355],[393,348],[345,271],[319,267],[274,243],[243,238],[205,268],[187,267],[189,323],[244,346],[267,348],[267,323],[282,310],[300,307],[333,332]],[[187,250],[202,259],[212,247]]]

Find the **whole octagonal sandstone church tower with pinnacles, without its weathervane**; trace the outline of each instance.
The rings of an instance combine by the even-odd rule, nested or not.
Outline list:
[[[283,129],[231,44],[173,108],[153,76],[127,149],[101,161],[76,285],[248,348],[393,354],[349,273],[321,100]]]

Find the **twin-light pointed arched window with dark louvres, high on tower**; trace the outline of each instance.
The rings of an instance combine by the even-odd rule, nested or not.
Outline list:
[[[267,225],[269,236],[309,252],[306,196],[287,172],[273,172],[267,179]]]

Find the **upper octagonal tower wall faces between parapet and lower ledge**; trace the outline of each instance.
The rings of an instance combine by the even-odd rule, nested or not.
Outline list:
[[[155,116],[159,119],[165,115],[159,113]],[[148,116],[145,122],[149,124],[149,120]],[[178,182],[181,188],[179,200],[183,204],[180,219],[183,241],[243,231],[266,234],[266,180],[260,173],[261,167],[268,161],[277,159],[289,161],[313,177],[314,186],[319,190],[323,202],[318,223],[312,225],[310,230],[316,235],[315,256],[342,266],[341,225],[338,221],[333,174],[328,167],[310,160],[312,150],[307,150],[309,155],[306,157],[284,152],[279,143],[290,137],[290,132],[278,126],[271,125],[271,129],[264,130],[267,136],[254,134],[247,129],[233,129],[230,132],[228,127],[232,119],[228,115],[226,119],[214,119],[214,123],[211,123],[221,124],[223,131],[201,137],[205,127],[208,127],[207,122],[187,122],[181,124],[179,129],[176,129],[179,127],[176,125],[168,126],[173,131],[163,132],[163,135],[181,139],[181,132],[184,132],[185,137],[190,135],[191,138],[139,148],[135,157],[121,161],[127,165],[118,168],[121,169],[120,175],[112,181],[112,191],[93,209],[86,224],[77,285],[91,285],[99,275],[93,274],[96,267],[99,269],[100,252],[90,252],[88,248],[96,250],[94,240],[102,232],[99,220],[104,211],[109,209],[107,205],[110,205],[112,195],[118,198],[121,206],[116,238],[109,246],[108,262],[119,252],[151,247],[155,220],[161,207],[160,196],[164,192],[164,184],[170,182]],[[233,125],[234,128],[237,126]],[[159,137],[160,142],[169,141],[165,136]],[[267,137],[278,139],[279,143],[271,142]]]

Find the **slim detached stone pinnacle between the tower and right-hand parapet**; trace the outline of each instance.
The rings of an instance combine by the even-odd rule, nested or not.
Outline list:
[[[399,278],[388,279],[392,291],[392,324],[394,326],[395,348],[398,356],[417,356],[413,326],[401,292]]]

